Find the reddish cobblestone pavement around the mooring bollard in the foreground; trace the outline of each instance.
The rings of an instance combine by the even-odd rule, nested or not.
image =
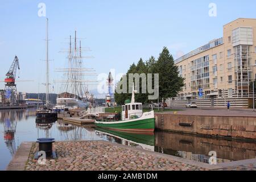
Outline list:
[[[55,142],[53,147],[57,152],[57,159],[47,160],[45,165],[40,165],[34,159],[34,154],[38,150],[38,144],[34,143],[25,170],[207,170],[102,141]]]

